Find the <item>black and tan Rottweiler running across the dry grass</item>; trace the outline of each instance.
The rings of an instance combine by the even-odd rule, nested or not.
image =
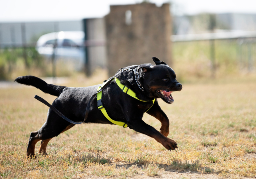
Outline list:
[[[171,104],[174,102],[171,93],[173,91],[181,91],[182,86],[177,82],[173,69],[155,57],[153,57],[153,61],[156,65],[132,65],[121,68],[115,75],[121,84],[136,94],[139,100],[124,93],[117,85],[117,82],[112,80],[102,90],[102,103],[111,119],[122,121],[129,128],[153,137],[165,148],[175,150],[175,148],[178,148],[177,143],[166,137],[169,134],[169,119],[158,105],[157,98],[161,98],[166,103]],[[53,101],[52,106],[75,122],[83,121],[85,109],[87,105],[90,105],[89,116],[85,123],[113,124],[98,109],[97,97],[94,97],[91,103],[88,104],[89,99],[96,93],[100,85],[79,88],[56,86],[47,84],[42,79],[34,76],[18,77],[15,81],[34,86],[45,93],[58,96]],[[162,124],[160,132],[142,120],[145,112],[160,120]],[[27,157],[35,155],[35,145],[40,140],[42,141],[39,153],[46,154],[47,143],[53,137],[58,136],[73,126],[75,124],[63,120],[52,109],[49,109],[44,125],[38,131],[31,132],[30,134]]]

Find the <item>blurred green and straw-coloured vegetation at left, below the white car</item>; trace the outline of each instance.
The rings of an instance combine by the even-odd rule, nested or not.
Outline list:
[[[73,64],[61,59],[56,60],[57,76],[73,75]],[[0,80],[14,80],[18,76],[52,76],[51,58],[45,58],[32,48],[0,49]]]

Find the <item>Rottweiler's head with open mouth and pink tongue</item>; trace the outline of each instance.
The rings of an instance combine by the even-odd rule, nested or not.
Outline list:
[[[176,74],[163,61],[153,57],[156,65],[139,65],[140,80],[144,86],[145,93],[151,98],[161,98],[166,103],[173,103],[172,93],[181,91],[182,85],[176,80]]]

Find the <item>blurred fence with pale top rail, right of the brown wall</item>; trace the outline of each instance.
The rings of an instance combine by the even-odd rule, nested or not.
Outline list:
[[[172,36],[174,66],[183,76],[253,73],[256,32]]]

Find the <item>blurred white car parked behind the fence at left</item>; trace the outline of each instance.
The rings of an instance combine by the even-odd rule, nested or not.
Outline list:
[[[36,44],[39,54],[51,58],[55,47],[55,58],[72,60],[76,70],[82,70],[84,64],[84,32],[60,31],[42,35]]]

